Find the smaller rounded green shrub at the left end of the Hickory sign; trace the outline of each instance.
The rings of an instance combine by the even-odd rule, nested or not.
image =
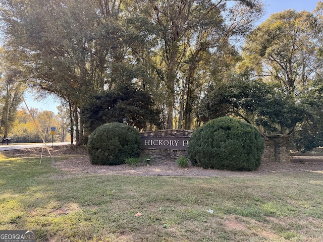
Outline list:
[[[92,164],[120,165],[127,158],[139,157],[140,145],[135,128],[121,123],[107,123],[94,130],[87,148]]]

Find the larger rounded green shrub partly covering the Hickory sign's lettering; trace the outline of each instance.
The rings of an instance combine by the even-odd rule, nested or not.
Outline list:
[[[210,120],[194,132],[187,153],[193,165],[227,170],[254,170],[264,148],[259,132],[236,118]]]

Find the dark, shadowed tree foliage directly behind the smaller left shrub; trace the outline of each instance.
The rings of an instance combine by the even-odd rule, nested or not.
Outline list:
[[[159,113],[147,92],[124,86],[89,98],[81,116],[89,132],[105,123],[122,123],[123,118],[128,125],[146,130],[148,125],[160,125]]]

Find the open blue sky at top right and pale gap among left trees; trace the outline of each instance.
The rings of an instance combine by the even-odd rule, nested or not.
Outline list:
[[[270,17],[271,14],[278,13],[287,9],[295,9],[296,11],[307,10],[312,12],[318,0],[264,0],[266,14],[261,18],[259,23]],[[32,94],[25,95],[25,101],[29,108],[36,107],[39,110],[49,110],[57,113],[57,106],[60,103],[54,100],[50,95],[43,100],[34,100]],[[23,103],[23,106],[25,104]]]

